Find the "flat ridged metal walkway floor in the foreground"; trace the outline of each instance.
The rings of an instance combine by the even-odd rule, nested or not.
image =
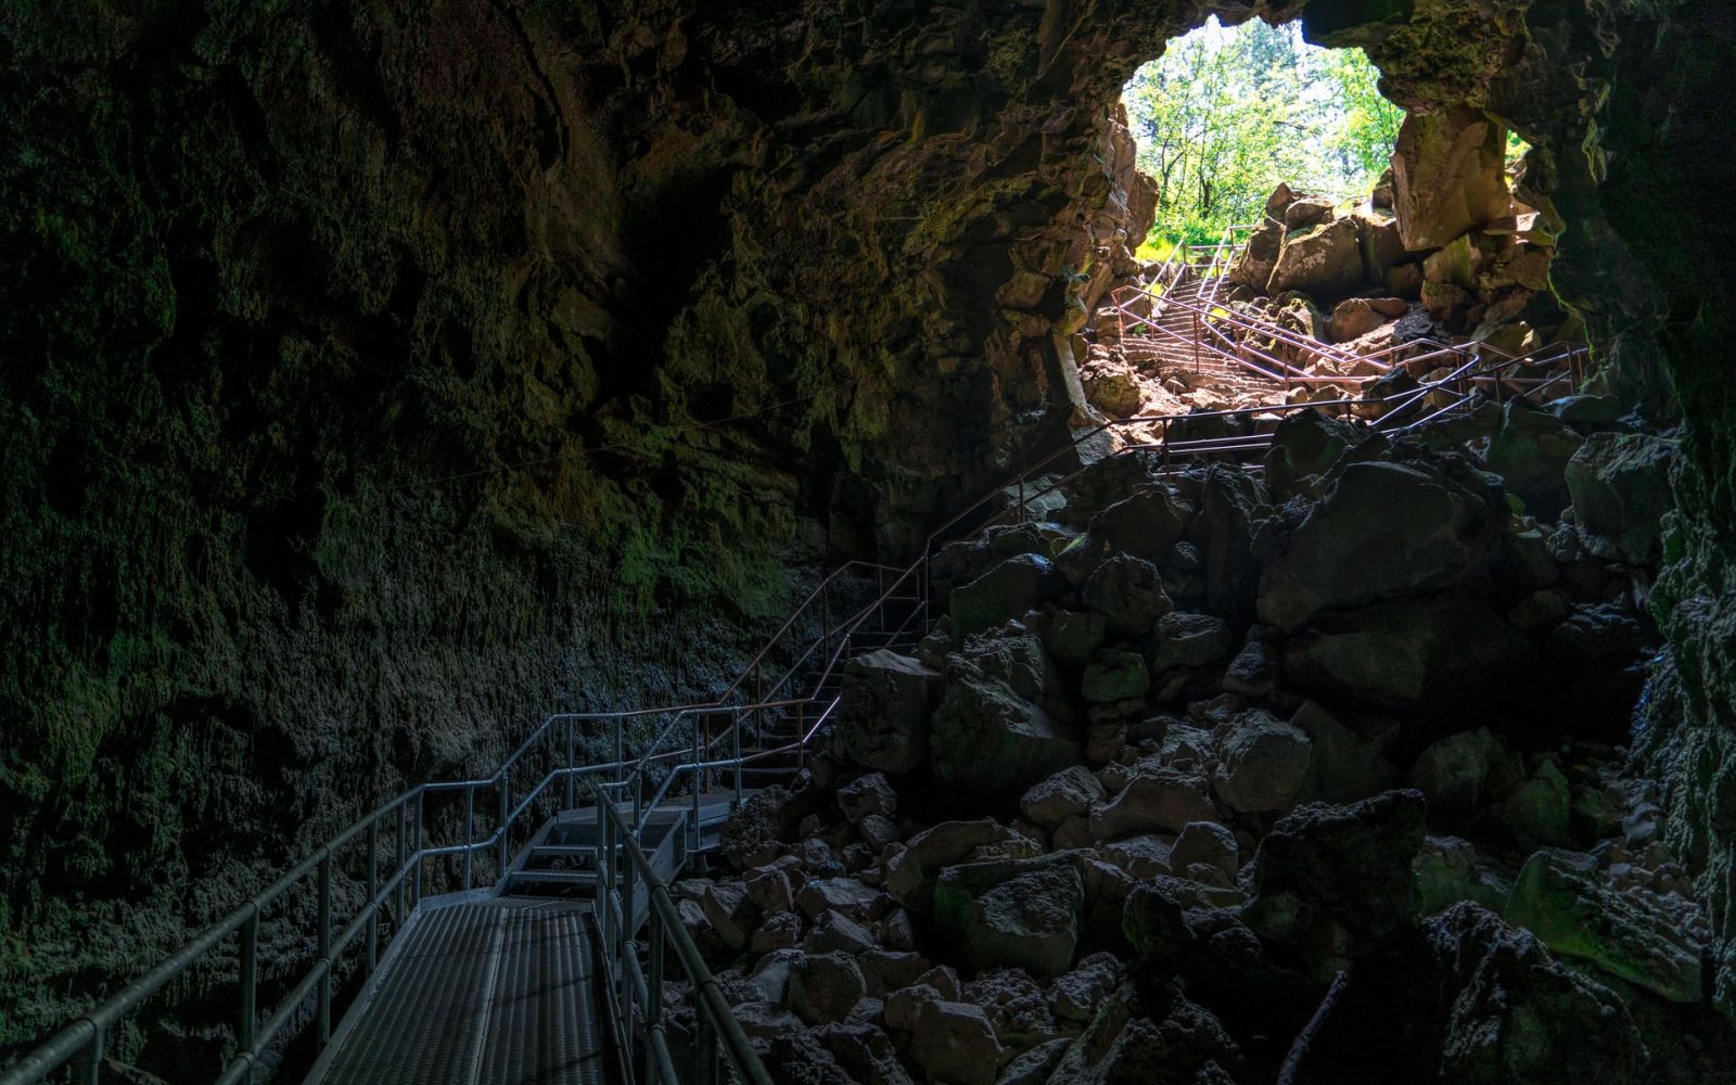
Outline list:
[[[307,1082],[608,1082],[585,911],[498,898],[422,913]]]

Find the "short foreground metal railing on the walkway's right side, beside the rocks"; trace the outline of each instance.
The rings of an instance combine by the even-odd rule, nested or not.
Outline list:
[[[748,1042],[746,1033],[729,1009],[717,977],[707,967],[693,936],[681,922],[681,911],[668,885],[656,871],[656,863],[646,856],[634,826],[615,800],[602,797],[599,807],[602,833],[597,842],[597,904],[595,922],[602,943],[604,972],[615,991],[615,1040],[620,1050],[634,1050],[634,1040],[644,1036],[644,1073],[649,1085],[675,1085],[682,1080],[670,1049],[668,1023],[663,1012],[663,977],[674,963],[691,988],[698,1023],[691,1052],[691,1080],[696,1085],[715,1085],[726,1080],[746,1085],[771,1085],[771,1075]],[[674,833],[672,833],[674,835]],[[616,871],[618,865],[618,871]],[[648,915],[646,943],[634,939],[637,924],[632,920],[644,901]],[[639,951],[646,950],[641,967]]]

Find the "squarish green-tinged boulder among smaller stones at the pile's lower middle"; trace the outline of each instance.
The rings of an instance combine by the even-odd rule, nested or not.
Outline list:
[[[976,969],[1066,972],[1083,908],[1085,885],[1066,856],[948,866],[934,887],[936,925]]]

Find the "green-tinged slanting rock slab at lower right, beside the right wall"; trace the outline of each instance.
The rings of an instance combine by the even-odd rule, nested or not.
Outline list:
[[[1698,908],[1641,885],[1616,889],[1599,877],[1594,856],[1561,849],[1533,854],[1514,882],[1505,918],[1555,953],[1670,1002],[1700,1002],[1706,932]]]

